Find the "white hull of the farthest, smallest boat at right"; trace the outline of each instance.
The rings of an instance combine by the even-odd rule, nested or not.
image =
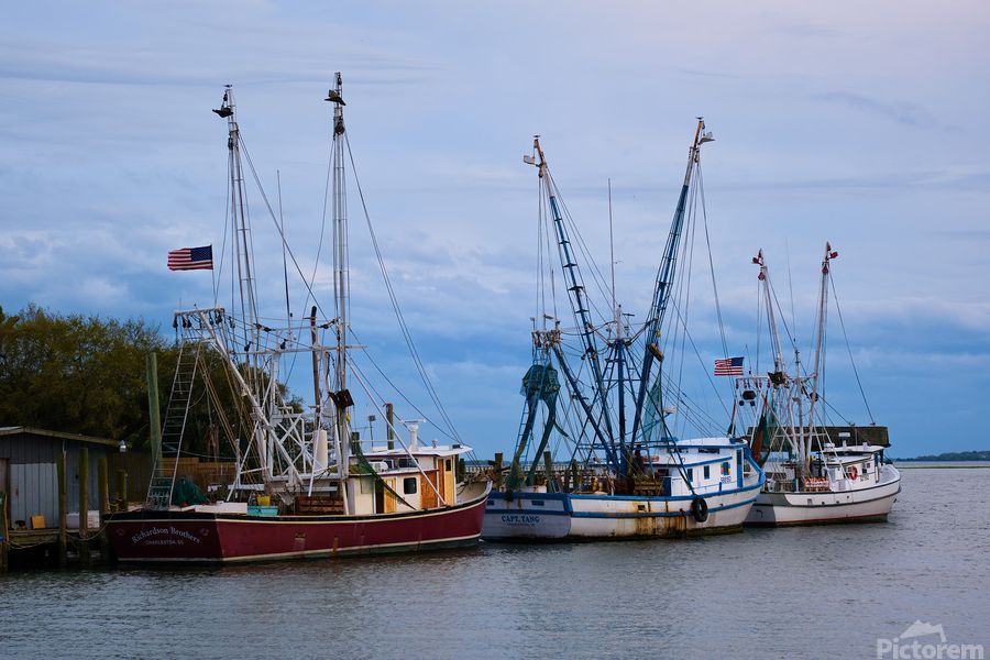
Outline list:
[[[858,491],[760,493],[745,524],[778,527],[886,520],[900,492],[898,476],[895,481]]]

